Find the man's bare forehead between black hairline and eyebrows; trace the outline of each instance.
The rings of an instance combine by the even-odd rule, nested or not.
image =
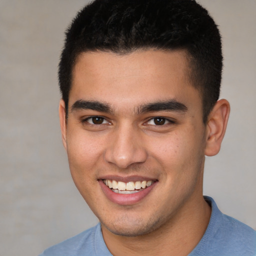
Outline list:
[[[89,99],[111,105],[175,99],[200,101],[191,85],[185,51],[146,50],[128,54],[81,53],[73,68],[69,102]],[[185,102],[184,102],[185,103]]]

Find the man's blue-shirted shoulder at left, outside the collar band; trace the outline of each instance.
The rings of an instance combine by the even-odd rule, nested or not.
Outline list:
[[[78,256],[78,255],[97,255],[95,251],[95,239],[100,238],[100,224],[91,227],[69,239],[55,244],[44,250],[39,256]],[[103,239],[102,239],[103,240]],[[96,241],[100,246],[102,241]],[[85,254],[86,253],[86,254]]]

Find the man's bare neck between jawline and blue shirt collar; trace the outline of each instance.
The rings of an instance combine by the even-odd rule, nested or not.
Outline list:
[[[200,198],[189,198],[168,222],[158,229],[140,236],[120,236],[102,225],[102,234],[114,256],[187,255],[203,236],[211,209]],[[171,254],[170,254],[171,253]]]

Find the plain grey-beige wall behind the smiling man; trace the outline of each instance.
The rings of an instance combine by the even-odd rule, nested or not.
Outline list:
[[[231,104],[204,194],[256,228],[256,1],[199,2],[220,26]],[[84,3],[0,0],[0,255],[37,255],[97,222],[72,183],[57,114],[63,31]]]

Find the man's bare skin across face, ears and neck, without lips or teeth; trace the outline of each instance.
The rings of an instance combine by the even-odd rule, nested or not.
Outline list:
[[[204,155],[219,151],[229,104],[217,101],[204,124],[201,95],[187,70],[184,51],[86,52],[73,69],[67,120],[60,100],[72,178],[99,218],[113,255],[187,255],[207,227]],[[75,107],[79,100],[109,109]],[[145,105],[173,100],[185,109],[141,111]],[[91,116],[103,122],[94,124]],[[154,117],[165,118],[164,124],[155,124]],[[102,190],[100,180],[109,175],[156,182],[140,200],[119,204]]]

